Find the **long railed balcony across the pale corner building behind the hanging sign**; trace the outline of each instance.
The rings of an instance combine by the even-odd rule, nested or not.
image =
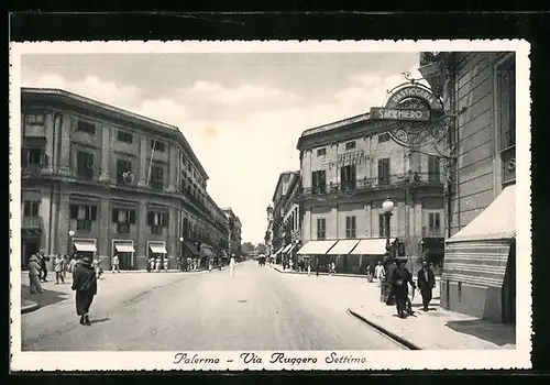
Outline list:
[[[400,188],[411,186],[442,186],[442,177],[436,173],[395,174],[385,177],[371,177],[342,184],[330,183],[324,186],[302,188],[300,199],[327,195],[354,195],[362,191],[383,190],[386,188]]]

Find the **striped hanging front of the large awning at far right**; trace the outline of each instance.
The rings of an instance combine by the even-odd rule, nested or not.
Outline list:
[[[510,244],[510,240],[448,243],[441,279],[473,286],[502,287]]]

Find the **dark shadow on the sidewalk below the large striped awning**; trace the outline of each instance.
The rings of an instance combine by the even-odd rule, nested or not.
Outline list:
[[[449,321],[446,326],[460,333],[474,336],[499,346],[516,343],[516,328],[509,324],[475,319],[468,321]]]

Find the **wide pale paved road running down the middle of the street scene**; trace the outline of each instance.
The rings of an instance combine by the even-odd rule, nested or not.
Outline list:
[[[244,262],[206,273],[107,273],[91,308],[67,298],[22,315],[22,349],[36,351],[387,350],[398,344],[345,312],[364,279],[282,274]],[[52,284],[48,284],[52,285]],[[375,299],[377,300],[377,298]]]

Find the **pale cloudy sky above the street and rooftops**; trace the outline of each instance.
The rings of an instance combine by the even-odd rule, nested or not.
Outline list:
[[[416,53],[23,55],[23,87],[63,88],[177,125],[208,191],[262,242],[282,172],[299,169],[302,131],[367,112],[417,72]]]

